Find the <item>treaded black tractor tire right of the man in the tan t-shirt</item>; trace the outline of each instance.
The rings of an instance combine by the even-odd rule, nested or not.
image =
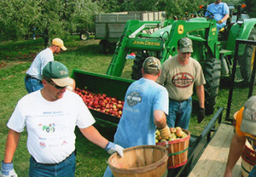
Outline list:
[[[203,71],[207,82],[204,86],[206,115],[211,115],[214,111],[214,106],[216,104],[218,95],[221,76],[221,61],[217,59],[206,60]]]

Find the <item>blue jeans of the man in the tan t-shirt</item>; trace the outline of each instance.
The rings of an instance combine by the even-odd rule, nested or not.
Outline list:
[[[166,117],[168,127],[189,128],[192,112],[192,98],[183,102],[169,99],[169,115]]]

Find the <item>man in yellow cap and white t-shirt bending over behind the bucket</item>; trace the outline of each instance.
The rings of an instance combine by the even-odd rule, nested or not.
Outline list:
[[[65,51],[67,48],[60,38],[54,38],[49,48],[42,50],[36,56],[32,65],[26,71],[25,86],[28,93],[32,93],[44,87],[42,83],[44,66],[46,66],[49,61],[53,61],[54,54],[60,54],[61,50]]]

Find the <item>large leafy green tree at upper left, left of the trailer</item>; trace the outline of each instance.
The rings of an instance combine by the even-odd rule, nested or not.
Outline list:
[[[0,7],[2,40],[29,38],[35,32],[45,47],[49,38],[65,38],[79,26],[93,26],[100,11],[92,0],[9,0],[0,1]]]

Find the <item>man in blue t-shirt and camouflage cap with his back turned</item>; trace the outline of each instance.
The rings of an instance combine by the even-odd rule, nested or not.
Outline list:
[[[155,83],[160,76],[160,60],[148,57],[143,63],[143,77],[131,83],[125,94],[125,105],[114,142],[119,146],[155,145],[155,128],[160,136],[169,139],[170,128],[166,124],[168,92]],[[104,177],[112,177],[108,167]]]

